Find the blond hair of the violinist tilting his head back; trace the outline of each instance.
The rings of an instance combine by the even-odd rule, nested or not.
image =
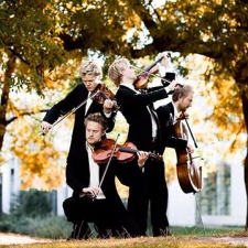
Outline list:
[[[108,68],[108,77],[116,86],[120,85],[122,71],[129,66],[130,63],[127,58],[117,58]]]

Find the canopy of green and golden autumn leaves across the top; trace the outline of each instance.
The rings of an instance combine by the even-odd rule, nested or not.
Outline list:
[[[248,20],[245,1],[148,4],[138,0],[24,0],[0,4],[0,47],[7,56],[18,58],[18,85],[39,93],[43,90],[45,71],[89,54],[103,56],[108,64],[119,55],[138,58],[162,51],[183,56],[194,53],[215,60],[219,72],[235,78],[239,75],[237,79],[248,75],[244,66]]]

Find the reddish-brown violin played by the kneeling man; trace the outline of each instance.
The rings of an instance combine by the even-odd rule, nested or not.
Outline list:
[[[112,154],[112,159],[118,160],[119,163],[127,163],[132,161],[137,157],[137,152],[139,152],[132,142],[125,142],[122,145],[117,144],[115,151],[112,151],[115,143],[112,139],[105,139],[100,148],[93,152],[93,160],[99,164],[107,163]],[[162,160],[161,155],[152,152],[149,153],[149,157]]]

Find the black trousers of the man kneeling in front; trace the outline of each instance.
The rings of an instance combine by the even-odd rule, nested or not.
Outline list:
[[[91,200],[88,197],[69,197],[64,201],[63,208],[68,222],[79,225],[82,222],[94,223],[99,235],[111,231],[112,236],[136,237],[141,234],[139,225],[128,213],[114,206],[108,200]],[[84,226],[83,231],[87,231]]]

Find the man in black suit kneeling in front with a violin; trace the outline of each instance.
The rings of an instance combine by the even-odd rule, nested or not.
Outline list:
[[[129,216],[117,193],[115,177],[128,185],[132,181],[130,175],[141,174],[139,166],[145,162],[148,153],[140,151],[138,162],[119,164],[111,160],[108,166],[98,165],[93,153],[105,137],[107,122],[100,114],[90,114],[85,119],[85,129],[86,142],[73,147],[66,166],[66,182],[74,190],[73,196],[63,203],[67,220],[74,224],[71,239],[90,236],[89,227],[82,228],[87,222],[96,225],[100,238],[140,235],[139,225]]]

